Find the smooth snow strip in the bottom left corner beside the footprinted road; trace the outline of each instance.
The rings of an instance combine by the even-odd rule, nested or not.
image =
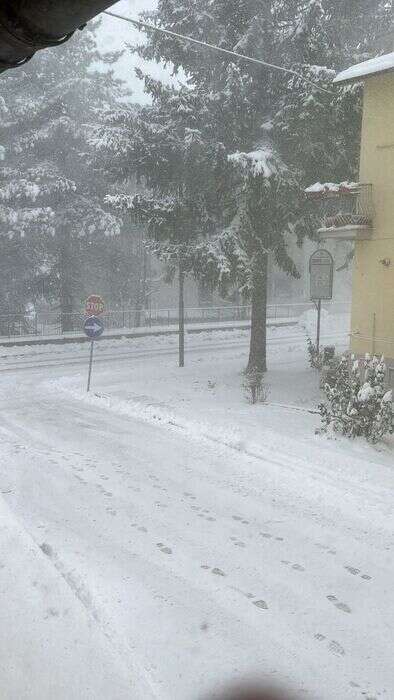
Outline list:
[[[84,599],[0,497],[2,700],[153,697],[126,668]]]

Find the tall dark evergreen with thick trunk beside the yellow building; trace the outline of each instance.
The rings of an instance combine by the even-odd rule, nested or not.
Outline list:
[[[199,268],[211,275],[212,285],[236,284],[251,298],[249,368],[264,371],[267,258],[296,276],[289,251],[313,235],[313,222],[302,206],[303,188],[321,178],[347,179],[357,171],[360,86],[334,89],[332,78],[339,68],[370,57],[374,36],[391,22],[389,8],[384,0],[352,0],[346,8],[333,0],[159,0],[157,10],[145,18],[287,67],[310,81],[241,59],[232,61],[149,30],[147,43],[135,47],[143,58],[164,61],[174,73],[182,69],[186,74],[190,94],[185,86],[171,90],[171,102],[179,106],[176,115],[169,115],[168,104],[163,104],[163,86],[141,75],[153,97],[153,110],[146,111],[144,119],[151,120],[156,138],[164,130],[169,139],[168,160],[152,159],[148,169],[152,173],[154,163],[167,181],[171,156],[179,164],[182,187],[190,173],[194,177],[194,158],[190,170],[185,169],[182,144],[170,143],[170,134],[179,133],[181,122],[182,128],[193,129],[207,155],[204,147],[211,145],[216,157],[202,159],[203,178],[196,178],[202,187],[200,201],[202,196],[204,205],[213,205],[205,230],[208,244],[200,242],[198,247],[205,261]],[[151,139],[146,139],[146,130],[140,149],[148,153],[149,162]],[[158,172],[154,176],[160,178]],[[197,200],[193,190],[192,194]],[[202,223],[195,221],[200,231],[208,222],[206,216]]]

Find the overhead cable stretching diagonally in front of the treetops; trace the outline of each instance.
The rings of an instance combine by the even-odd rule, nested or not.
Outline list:
[[[186,36],[184,34],[179,34],[178,32],[173,32],[171,29],[164,29],[163,27],[156,27],[153,24],[149,24],[148,22],[143,22],[142,20],[139,20],[139,19],[132,19],[131,17],[126,17],[125,15],[119,15],[118,13],[111,12],[110,10],[104,10],[103,14],[109,15],[110,17],[115,17],[116,19],[121,19],[124,22],[129,22],[129,24],[133,24],[138,29],[148,29],[148,30],[153,31],[153,32],[161,32],[161,34],[166,34],[167,36],[172,36],[175,39],[179,39],[180,41],[188,41],[191,44],[197,44],[198,46],[202,46],[203,48],[209,49],[210,51],[224,53],[227,56],[240,58],[243,61],[247,61],[248,63],[255,63],[257,65],[264,66],[265,68],[270,68],[272,70],[281,71],[282,73],[289,73],[290,75],[293,75],[296,78],[299,78],[304,83],[311,85],[316,90],[320,90],[320,92],[324,92],[324,93],[327,93],[329,95],[333,94],[333,92],[331,90],[328,90],[327,88],[321,87],[321,85],[318,85],[317,83],[313,82],[313,80],[309,80],[309,78],[305,78],[305,76],[301,75],[301,73],[297,73],[297,71],[292,70],[291,68],[284,68],[283,66],[277,66],[274,63],[267,63],[267,61],[262,61],[259,58],[253,58],[253,56],[247,56],[246,54],[238,53],[237,51],[230,51],[230,49],[224,49],[221,46],[215,46],[215,44],[209,44],[206,41],[200,41],[199,39],[194,39],[191,36]]]

